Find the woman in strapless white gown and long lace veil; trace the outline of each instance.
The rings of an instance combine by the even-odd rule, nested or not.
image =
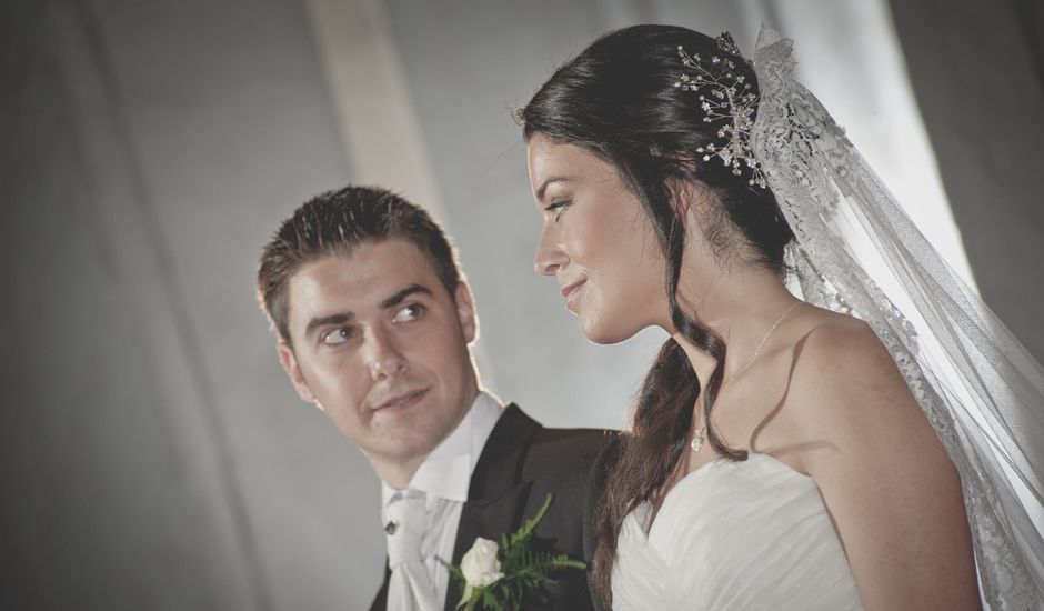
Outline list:
[[[916,306],[942,303],[914,320],[933,345],[963,354],[952,335],[968,335],[1016,353],[1028,382],[987,383],[974,402],[1014,397],[1040,427],[1041,368],[920,249],[791,80],[789,41],[770,32],[759,49],[755,73],[727,34],[619,30],[519,111],[543,217],[538,273],[591,341],[671,335],[609,459],[595,589],[614,609],[1037,608],[1040,533],[912,314],[841,239],[839,207],[885,244]],[[1002,361],[952,369],[988,382]],[[1020,434],[991,439],[1040,500],[1038,467],[1010,451]]]

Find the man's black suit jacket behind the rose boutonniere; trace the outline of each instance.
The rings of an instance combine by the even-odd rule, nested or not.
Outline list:
[[[599,454],[615,433],[592,429],[545,429],[511,404],[501,414],[471,475],[468,501],[461,511],[453,550],[460,564],[476,537],[494,541],[518,530],[536,514],[548,494],[554,495],[536,527],[534,550],[553,550],[583,559],[589,571],[569,570],[544,590],[531,593],[526,610],[602,610],[592,600],[588,577],[594,554],[594,510],[603,477],[594,472]],[[385,611],[391,571],[384,563],[384,583],[370,611]],[[462,595],[451,580],[445,611],[453,611]]]

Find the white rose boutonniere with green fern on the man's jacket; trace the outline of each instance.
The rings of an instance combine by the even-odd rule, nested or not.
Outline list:
[[[551,507],[551,494],[532,519],[521,529],[502,534],[500,544],[479,537],[456,567],[442,561],[453,578],[464,590],[464,595],[456,608],[465,611],[493,610],[505,611],[520,609],[525,592],[554,581],[553,573],[565,569],[586,569],[579,560],[572,560],[564,553],[533,552],[530,540],[533,529],[543,520]]]

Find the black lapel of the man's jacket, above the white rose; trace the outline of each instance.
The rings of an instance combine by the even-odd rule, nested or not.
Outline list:
[[[515,404],[508,405],[496,421],[471,475],[468,502],[461,510],[453,548],[453,563],[460,564],[476,537],[500,540],[516,530],[529,500],[531,481],[522,479],[522,464],[530,440],[540,430],[535,420]],[[453,611],[462,592],[452,581],[445,611]]]

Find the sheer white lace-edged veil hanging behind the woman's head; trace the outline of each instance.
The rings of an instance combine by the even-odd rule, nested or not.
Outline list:
[[[751,146],[796,237],[802,296],[866,321],[899,364],[961,473],[985,602],[1044,608],[1044,539],[1028,513],[1044,514],[1044,369],[793,80],[791,47],[759,36]],[[894,290],[865,270],[882,262]]]

